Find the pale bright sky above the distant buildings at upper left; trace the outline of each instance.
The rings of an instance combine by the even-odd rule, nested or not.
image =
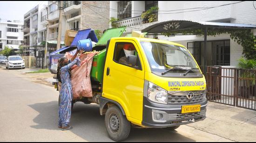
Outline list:
[[[24,14],[47,1],[0,1],[0,19],[24,20]]]

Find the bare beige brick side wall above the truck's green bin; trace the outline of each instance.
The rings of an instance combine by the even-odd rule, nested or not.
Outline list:
[[[97,6],[97,7],[95,7]],[[103,32],[109,28],[109,1],[82,1],[81,29],[92,28]]]

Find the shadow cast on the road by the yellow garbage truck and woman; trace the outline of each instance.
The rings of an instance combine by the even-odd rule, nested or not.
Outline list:
[[[39,112],[39,115],[33,120],[37,125],[31,127],[35,129],[60,130],[57,127],[57,101],[37,103],[29,106]],[[70,131],[88,142],[113,142],[108,137],[104,118],[105,116],[100,115],[98,105],[86,105],[77,102],[74,104],[71,115],[70,125],[73,129]],[[195,140],[184,137],[176,131],[158,128],[132,128],[125,142],[195,142]]]

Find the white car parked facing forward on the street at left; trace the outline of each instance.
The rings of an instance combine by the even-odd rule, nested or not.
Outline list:
[[[21,56],[8,56],[6,68],[25,68],[25,62],[23,61]]]

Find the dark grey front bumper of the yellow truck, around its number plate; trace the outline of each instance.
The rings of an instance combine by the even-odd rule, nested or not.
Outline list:
[[[152,128],[165,128],[181,124],[189,124],[206,118],[207,99],[195,104],[162,105],[143,99],[142,125]],[[200,112],[181,113],[182,106],[201,105]],[[158,117],[157,117],[158,116]]]

